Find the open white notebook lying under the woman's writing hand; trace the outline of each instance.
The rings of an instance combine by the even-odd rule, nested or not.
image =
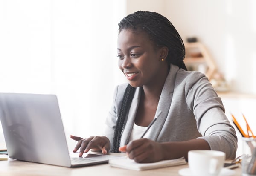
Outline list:
[[[133,159],[122,157],[122,158],[110,159],[108,163],[112,167],[119,167],[123,169],[149,170],[149,169],[156,169],[160,167],[170,167],[170,166],[186,164],[186,161],[184,158],[179,158],[179,159],[163,160],[163,161],[153,162],[153,163],[137,163]]]

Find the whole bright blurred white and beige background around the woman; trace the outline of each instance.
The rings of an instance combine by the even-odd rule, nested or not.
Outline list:
[[[70,148],[70,134],[100,135],[113,89],[125,82],[117,24],[149,10],[167,17],[185,43],[203,46],[201,70],[214,67],[210,81],[224,84],[218,93],[228,118],[244,125],[244,113],[256,133],[255,9],[255,0],[0,0],[0,92],[56,94]]]

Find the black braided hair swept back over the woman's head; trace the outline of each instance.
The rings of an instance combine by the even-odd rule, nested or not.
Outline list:
[[[167,46],[169,49],[167,61],[179,68],[186,69],[183,59],[185,58],[185,46],[180,34],[172,23],[156,12],[137,11],[129,14],[120,21],[119,33],[122,29],[142,29],[147,32],[150,39],[157,46]]]

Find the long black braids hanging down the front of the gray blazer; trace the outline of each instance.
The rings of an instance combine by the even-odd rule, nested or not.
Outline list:
[[[132,98],[134,97],[134,92],[135,92],[134,87],[131,87],[130,84],[125,89],[125,94],[122,99],[122,105],[119,110],[118,116],[117,116],[117,121],[116,121],[116,128],[114,132],[114,138],[113,138],[113,152],[114,153],[119,153],[119,147],[120,147],[120,140],[121,140],[121,133],[123,130],[123,126],[125,123],[125,117],[127,115],[128,109],[131,106],[131,101]]]

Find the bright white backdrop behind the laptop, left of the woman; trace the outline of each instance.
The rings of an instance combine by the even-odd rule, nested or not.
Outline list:
[[[124,2],[0,0],[0,92],[56,94],[72,148],[70,134],[102,134],[125,79],[116,57]]]

